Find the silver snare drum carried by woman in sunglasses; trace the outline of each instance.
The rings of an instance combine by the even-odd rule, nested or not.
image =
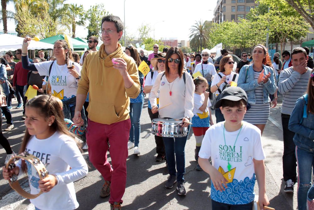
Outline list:
[[[152,133],[163,137],[183,137],[188,130],[182,125],[182,120],[156,118],[152,120]]]

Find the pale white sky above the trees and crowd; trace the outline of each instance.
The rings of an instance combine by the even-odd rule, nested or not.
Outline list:
[[[151,27],[150,37],[155,39],[189,40],[190,28],[196,20],[212,20],[213,11],[217,1],[205,0],[195,1],[198,4],[191,4],[194,1],[186,0],[125,0],[125,26],[128,34],[138,37],[138,27],[143,24],[149,24]],[[91,3],[105,5],[106,11],[120,17],[124,21],[124,0],[67,0],[66,3],[82,4],[87,10]],[[8,10],[14,10],[13,4],[10,3]],[[3,30],[3,24],[0,29]],[[14,31],[13,21],[8,23],[8,31]],[[154,32],[155,29],[155,32]],[[86,37],[87,29],[78,26],[76,37]]]

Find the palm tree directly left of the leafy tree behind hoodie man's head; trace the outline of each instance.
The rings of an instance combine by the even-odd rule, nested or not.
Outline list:
[[[85,15],[83,5],[70,4],[68,7],[68,16],[72,24],[72,37],[75,37],[76,26],[84,26]],[[76,21],[78,19],[78,21]]]

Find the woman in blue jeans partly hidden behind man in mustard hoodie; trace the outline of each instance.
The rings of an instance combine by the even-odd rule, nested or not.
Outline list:
[[[132,57],[135,60],[137,66],[141,64],[141,59],[136,48],[128,46],[125,48],[125,54]],[[139,155],[141,152],[138,149],[139,135],[141,133],[141,113],[144,104],[144,93],[143,93],[143,80],[144,75],[138,71],[139,81],[141,83],[141,91],[136,99],[130,99],[130,141],[127,143],[127,149],[134,147],[134,155]]]

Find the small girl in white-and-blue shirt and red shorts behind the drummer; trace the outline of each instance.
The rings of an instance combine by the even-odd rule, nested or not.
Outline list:
[[[211,103],[208,99],[209,93],[206,92],[208,87],[207,80],[204,77],[196,77],[194,80],[194,108],[192,117],[192,129],[196,140],[195,160],[198,161],[198,152],[201,149],[202,140],[205,132],[210,125],[214,125],[211,118]],[[202,168],[197,164],[196,170],[201,171]]]

